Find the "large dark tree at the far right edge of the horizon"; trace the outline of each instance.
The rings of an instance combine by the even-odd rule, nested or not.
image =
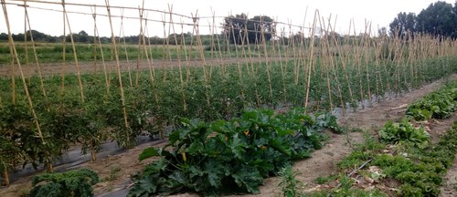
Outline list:
[[[430,4],[417,17],[418,30],[433,36],[456,37],[456,8],[446,2]]]

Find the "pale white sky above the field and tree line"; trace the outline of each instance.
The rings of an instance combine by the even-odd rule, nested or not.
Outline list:
[[[30,27],[39,32],[52,36],[63,34],[63,15],[62,5],[43,4],[37,2],[60,3],[59,0],[34,0],[27,1],[27,8]],[[6,11],[14,34],[23,33],[25,30],[25,9],[24,2],[21,0],[5,0]],[[139,7],[149,9],[144,11],[143,17],[149,20],[144,30],[149,36],[164,36],[170,33],[192,32],[193,21],[191,16],[199,16],[198,21],[200,34],[208,34],[211,31],[220,32],[218,28],[210,28],[213,24],[220,26],[223,16],[247,13],[252,16],[270,16],[277,22],[292,24],[289,26],[278,26],[278,30],[284,29],[285,34],[304,31],[299,26],[313,26],[314,16],[322,19],[321,24],[325,26],[330,19],[335,31],[340,34],[353,35],[365,32],[366,24],[371,24],[372,32],[376,34],[377,29],[388,24],[399,14],[399,12],[412,12],[419,14],[422,9],[427,8],[436,0],[282,0],[282,1],[260,1],[260,0],[229,0],[229,1],[210,1],[210,0],[110,0],[112,6],[131,7],[133,9],[122,9],[112,7],[112,28],[115,36],[135,36],[140,33]],[[446,0],[447,3],[454,5],[455,0]],[[105,0],[66,0],[66,3],[76,3],[84,5],[105,5]],[[172,8],[171,8],[172,7]],[[44,9],[48,10],[44,10]],[[92,7],[93,8],[93,7]],[[91,15],[93,9],[90,6],[66,5],[69,20],[69,28],[72,33],[81,30],[86,31],[90,36],[94,35],[94,20]],[[159,11],[172,12],[172,20],[176,23],[170,26],[170,15]],[[100,36],[111,36],[111,26],[108,20],[106,7],[97,7],[96,25]],[[76,14],[84,13],[84,14]],[[319,15],[316,15],[316,14]],[[214,14],[214,15],[213,15]],[[213,16],[215,16],[213,18]],[[335,20],[336,19],[336,20]],[[165,20],[165,28],[164,28]],[[213,23],[214,20],[214,23]],[[353,21],[353,22],[351,22]],[[325,23],[325,25],[323,24]],[[185,25],[181,26],[181,23]],[[122,26],[121,26],[122,24]],[[351,29],[349,30],[349,27]],[[123,32],[122,28],[123,27]],[[27,27],[28,28],[28,27]],[[67,27],[67,34],[69,33]],[[356,29],[354,29],[356,28]],[[165,29],[165,30],[164,30]],[[175,30],[174,30],[175,29]],[[0,32],[7,33],[5,16],[0,16]]]

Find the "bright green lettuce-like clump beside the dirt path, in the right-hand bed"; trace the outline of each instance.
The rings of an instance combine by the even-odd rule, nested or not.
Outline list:
[[[388,121],[382,130],[379,130],[379,138],[384,142],[407,142],[421,149],[429,145],[430,135],[424,128],[414,128],[409,119],[402,119],[399,123]]]

